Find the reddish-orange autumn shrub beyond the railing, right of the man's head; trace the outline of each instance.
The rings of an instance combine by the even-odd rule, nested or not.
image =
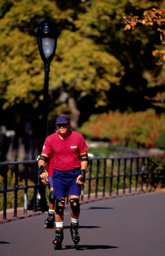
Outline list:
[[[114,145],[156,147],[158,136],[165,131],[165,115],[157,115],[153,110],[124,114],[110,111],[92,115],[79,131],[91,138],[108,139]]]

